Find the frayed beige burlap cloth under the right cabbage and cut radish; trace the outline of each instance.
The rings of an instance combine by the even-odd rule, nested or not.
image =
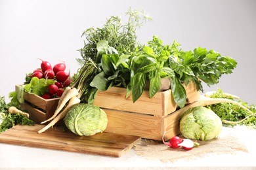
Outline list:
[[[181,136],[182,137],[182,136]],[[234,135],[222,135],[209,141],[197,141],[200,146],[192,150],[170,148],[161,141],[142,139],[135,144],[135,152],[148,160],[174,162],[178,160],[194,160],[207,154],[237,154],[248,152],[244,144]]]

